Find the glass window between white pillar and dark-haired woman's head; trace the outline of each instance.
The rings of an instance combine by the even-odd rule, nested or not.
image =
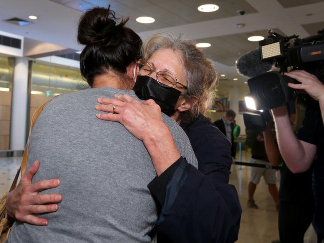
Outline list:
[[[35,110],[47,100],[59,94],[78,91],[85,84],[78,68],[34,62],[31,71],[29,122]]]

